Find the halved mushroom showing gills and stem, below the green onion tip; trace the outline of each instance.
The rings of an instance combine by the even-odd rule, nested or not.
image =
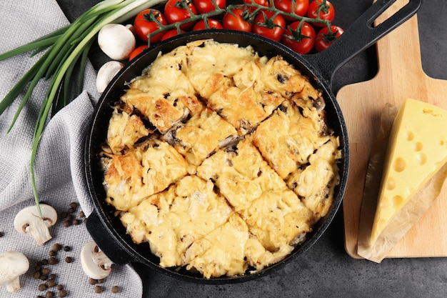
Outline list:
[[[47,204],[40,204],[42,217],[37,206],[29,206],[21,209],[14,219],[14,227],[21,234],[30,234],[38,246],[51,239],[49,227],[56,224],[57,212]]]

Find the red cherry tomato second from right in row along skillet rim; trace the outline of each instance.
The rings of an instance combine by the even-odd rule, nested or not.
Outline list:
[[[296,51],[298,54],[308,54],[315,44],[315,29],[308,23],[303,23],[301,31],[298,29],[300,21],[295,21],[288,26],[283,35],[282,43]]]

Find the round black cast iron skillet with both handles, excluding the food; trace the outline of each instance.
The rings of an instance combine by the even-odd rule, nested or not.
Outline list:
[[[94,212],[89,216],[86,224],[91,236],[96,244],[105,252],[105,254],[116,264],[129,264],[131,262],[141,262],[151,268],[157,269],[180,279],[186,279],[191,282],[223,284],[230,282],[243,282],[254,277],[260,277],[263,274],[271,273],[278,269],[294,257],[301,256],[309,249],[326,230],[331,220],[335,216],[338,207],[341,204],[343,192],[348,179],[349,148],[346,124],[343,114],[337,104],[336,97],[331,91],[331,81],[336,70],[346,61],[351,59],[359,52],[375,43],[389,31],[395,29],[398,25],[416,14],[421,0],[410,0],[400,11],[391,16],[382,24],[373,27],[373,21],[385,11],[396,0],[378,0],[376,1],[354,24],[345,31],[341,37],[334,42],[326,51],[319,54],[298,55],[288,49],[286,46],[278,44],[261,36],[247,34],[239,31],[196,31],[189,34],[177,36],[174,39],[156,44],[148,51],[145,51],[136,59],[132,60],[127,66],[115,76],[111,84],[106,88],[96,106],[96,112],[91,124],[91,131],[86,141],[85,163],[86,179],[94,203]],[[149,251],[147,244],[136,245],[131,241],[129,235],[126,235],[124,227],[117,217],[114,216],[114,208],[105,203],[105,192],[102,185],[102,172],[99,170],[98,152],[101,150],[101,144],[106,139],[107,126],[111,116],[111,106],[123,94],[126,82],[131,81],[141,74],[141,71],[151,64],[159,52],[166,53],[175,49],[177,46],[184,45],[189,41],[198,39],[214,39],[219,42],[236,43],[240,46],[253,46],[260,55],[276,56],[281,55],[291,64],[300,69],[303,74],[311,79],[313,86],[321,89],[326,100],[326,112],[329,126],[340,136],[342,158],[339,164],[341,181],[336,188],[333,206],[326,217],[323,217],[314,227],[313,232],[303,244],[296,247],[293,252],[277,264],[251,274],[247,272],[238,277],[219,277],[215,279],[204,279],[199,274],[186,271],[185,269],[166,269],[159,266],[159,258],[155,257]]]

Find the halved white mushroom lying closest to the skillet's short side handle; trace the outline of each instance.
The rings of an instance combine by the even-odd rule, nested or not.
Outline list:
[[[81,250],[81,265],[85,274],[92,279],[104,279],[111,272],[113,262],[94,241],[84,244]]]

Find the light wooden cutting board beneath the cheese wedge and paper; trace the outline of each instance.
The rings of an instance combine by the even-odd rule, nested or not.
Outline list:
[[[396,1],[381,18],[391,16],[406,3],[408,0]],[[376,24],[380,24],[380,20]],[[336,96],[346,119],[351,146],[343,219],[346,252],[353,258],[361,258],[357,254],[358,220],[368,158],[378,131],[381,109],[387,102],[401,106],[407,97],[447,109],[447,81],[432,79],[422,69],[417,16],[383,37],[376,46],[376,76],[370,81],[344,86]],[[388,257],[446,256],[447,187],[444,185],[438,199],[393,247]]]

